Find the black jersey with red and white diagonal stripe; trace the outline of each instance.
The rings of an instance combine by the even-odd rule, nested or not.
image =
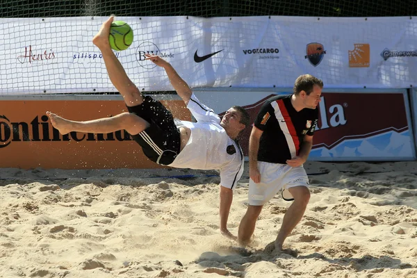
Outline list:
[[[298,155],[304,135],[312,136],[318,122],[318,108],[295,111],[292,95],[267,99],[254,125],[263,131],[259,142],[258,161],[285,164]]]

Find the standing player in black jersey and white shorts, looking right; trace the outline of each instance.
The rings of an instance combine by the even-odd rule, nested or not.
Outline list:
[[[259,111],[250,135],[250,206],[240,222],[240,244],[250,242],[263,205],[281,189],[284,199],[294,202],[268,249],[281,251],[284,240],[304,215],[310,191],[302,165],[313,145],[322,88],[320,79],[309,74],[299,76],[292,95],[271,97]]]

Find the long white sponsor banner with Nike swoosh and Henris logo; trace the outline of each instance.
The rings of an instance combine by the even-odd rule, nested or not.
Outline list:
[[[106,17],[0,19],[0,93],[112,92],[92,37]],[[327,88],[417,85],[410,17],[117,17],[134,33],[116,52],[140,90],[172,90],[166,58],[192,88],[291,87],[313,74]]]

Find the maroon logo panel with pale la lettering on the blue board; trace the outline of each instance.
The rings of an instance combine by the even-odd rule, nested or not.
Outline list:
[[[366,108],[366,104],[370,103],[368,101],[373,102],[373,108]],[[345,140],[359,142],[388,131],[400,133],[408,129],[407,117],[400,112],[404,111],[404,97],[398,93],[325,93],[318,109],[319,122],[314,133],[313,149],[332,149]],[[375,113],[379,115],[377,121]],[[345,152],[350,150],[347,148]]]

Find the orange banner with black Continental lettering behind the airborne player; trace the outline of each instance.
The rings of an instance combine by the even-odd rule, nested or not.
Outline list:
[[[190,120],[182,100],[161,101],[181,120]],[[46,111],[70,120],[95,120],[126,112],[119,100],[1,100],[0,167],[31,169],[159,168],[126,131],[58,133]]]

